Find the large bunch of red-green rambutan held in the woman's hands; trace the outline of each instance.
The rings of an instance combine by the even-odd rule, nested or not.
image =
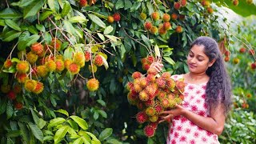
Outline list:
[[[127,83],[128,102],[138,107],[140,111],[136,114],[137,122],[147,122],[144,134],[152,137],[158,127],[160,113],[182,103],[185,82],[183,79],[174,81],[169,72],[158,74],[151,67],[147,74],[134,72],[132,78],[133,82]]]

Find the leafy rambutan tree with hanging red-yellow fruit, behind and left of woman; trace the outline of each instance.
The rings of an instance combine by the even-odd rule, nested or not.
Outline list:
[[[165,124],[152,138],[142,134],[126,84],[148,70],[155,51],[163,71],[181,74],[194,38],[228,45],[218,12],[225,2],[1,2],[1,142],[164,143]],[[245,14],[255,8],[248,6]]]

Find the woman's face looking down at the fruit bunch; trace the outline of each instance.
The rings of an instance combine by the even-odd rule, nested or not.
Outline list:
[[[204,73],[213,64],[214,62],[209,62],[209,58],[204,53],[204,46],[202,45],[194,45],[187,55],[187,65],[190,72]]]

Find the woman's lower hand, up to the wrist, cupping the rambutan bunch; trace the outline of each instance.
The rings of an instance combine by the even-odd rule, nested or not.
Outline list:
[[[161,117],[162,120],[160,120],[159,123],[164,121],[170,122],[170,119],[173,119],[176,116],[184,114],[184,111],[185,109],[178,104],[172,110],[162,111],[160,114],[162,114],[163,116]]]

